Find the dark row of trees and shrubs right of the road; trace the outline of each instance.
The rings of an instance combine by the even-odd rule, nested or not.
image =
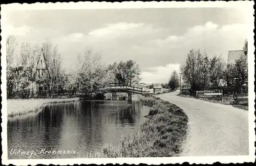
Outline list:
[[[228,64],[221,56],[209,58],[206,52],[190,50],[181,66],[181,72],[184,83],[191,89],[191,94],[193,91],[204,89],[223,89],[226,94],[248,92],[247,45],[245,40],[245,56],[241,56],[235,63]]]

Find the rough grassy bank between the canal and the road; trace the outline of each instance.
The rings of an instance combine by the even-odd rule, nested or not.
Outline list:
[[[153,105],[148,120],[139,131],[123,136],[118,146],[105,145],[100,157],[170,157],[181,153],[188,122],[183,110],[156,97],[141,101]]]

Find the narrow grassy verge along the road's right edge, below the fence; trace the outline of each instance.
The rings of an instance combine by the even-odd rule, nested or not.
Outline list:
[[[224,105],[232,105],[233,107],[244,109],[244,110],[248,111],[248,103],[245,103],[245,104],[234,104],[233,103],[234,102],[233,98],[230,98],[230,97],[223,97],[223,101],[219,101],[219,100],[210,100],[210,99],[207,99],[207,98],[191,97],[189,95],[184,95],[184,94],[177,94],[177,96],[184,97],[184,98],[199,99],[199,100],[203,100],[203,101],[207,101],[207,102],[211,102],[211,103],[219,103],[219,104],[224,104]]]

